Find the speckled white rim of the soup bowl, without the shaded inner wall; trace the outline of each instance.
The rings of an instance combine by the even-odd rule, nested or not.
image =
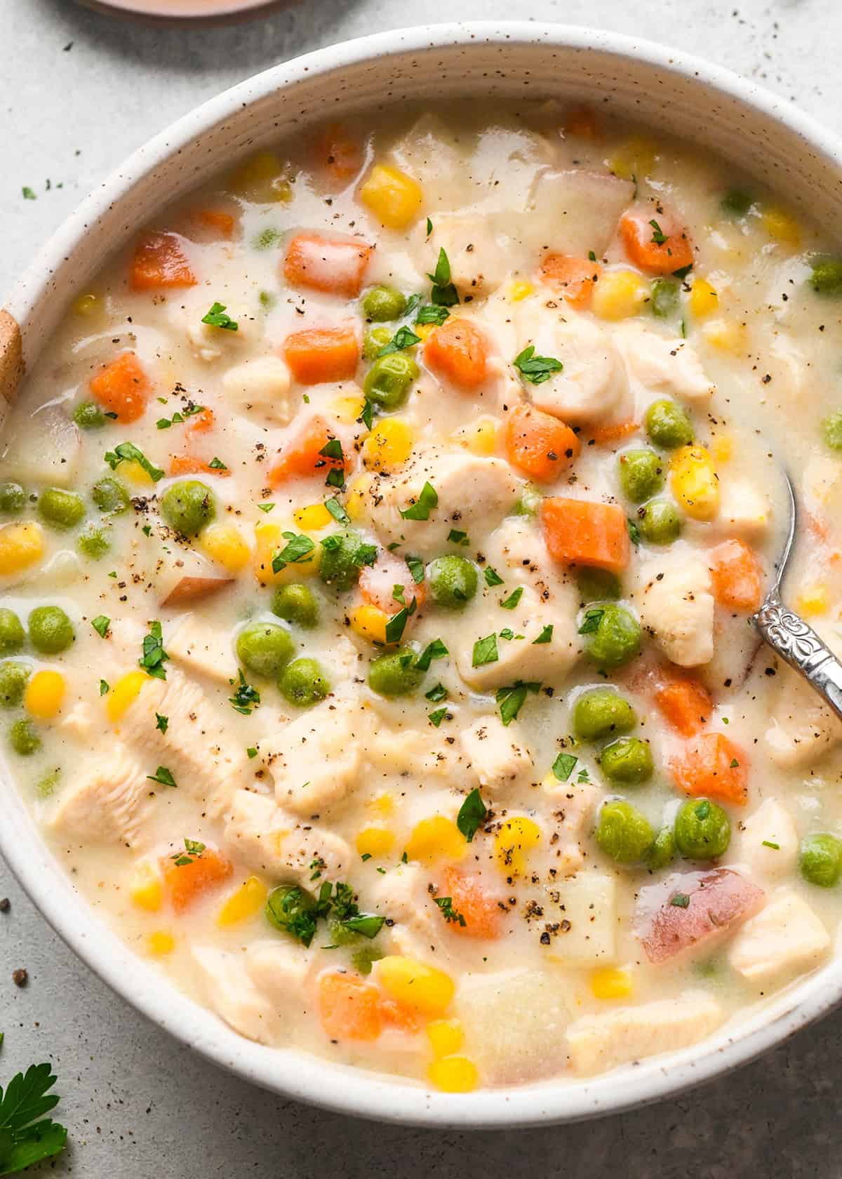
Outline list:
[[[842,180],[842,144],[835,136],[785,100],[689,54],[614,33],[526,21],[399,29],[296,58],[235,86],[179,119],[134,152],[64,223],[12,292],[7,310],[24,327],[26,337],[26,323],[41,301],[66,301],[67,291],[57,292],[52,276],[78,248],[87,226],[108,208],[119,205],[132,186],[158,164],[242,107],[295,87],[304,79],[374,64],[390,53],[422,57],[453,47],[471,53],[478,45],[496,46],[500,52],[514,45],[619,55],[653,71],[677,74],[684,81],[698,80],[746,112],[797,136],[821,159],[834,184]],[[177,1040],[237,1075],[284,1096],[342,1113],[459,1128],[504,1128],[600,1117],[673,1095],[736,1068],[842,1000],[842,961],[836,957],[776,996],[761,1013],[752,1014],[735,1034],[730,1035],[725,1028],[703,1043],[669,1056],[585,1080],[471,1094],[429,1092],[423,1085],[331,1063],[294,1049],[271,1049],[237,1035],[129,950],[74,891],[8,773],[0,780],[0,850],[53,928],[117,994]]]

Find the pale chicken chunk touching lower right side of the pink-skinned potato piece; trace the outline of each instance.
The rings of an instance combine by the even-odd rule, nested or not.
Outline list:
[[[807,901],[782,889],[741,929],[728,961],[749,982],[767,982],[809,969],[829,946],[830,935]]]

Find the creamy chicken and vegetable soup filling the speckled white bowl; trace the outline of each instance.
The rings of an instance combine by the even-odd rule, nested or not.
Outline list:
[[[7,422],[8,758],[243,1036],[449,1092],[703,1041],[828,960],[842,264],[553,105],[330,126],[140,228]],[[828,416],[830,415],[830,416]]]

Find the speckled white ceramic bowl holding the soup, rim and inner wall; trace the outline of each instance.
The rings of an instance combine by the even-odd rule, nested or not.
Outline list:
[[[258,74],[188,114],[105,180],[41,251],[0,312],[0,393],[42,348],[103,261],[173,197],[241,156],[311,121],[403,98],[557,95],[612,110],[730,157],[825,228],[842,213],[842,145],[752,83],[671,50],[560,25],[440,25],[331,46]],[[17,325],[20,325],[20,336]],[[4,349],[5,338],[5,349]],[[5,363],[4,363],[5,361]],[[4,389],[5,383],[5,389]],[[0,848],[35,904],[114,990],[210,1060],[288,1096],[370,1118],[436,1126],[570,1121],[642,1105],[743,1063],[842,997],[842,960],[778,995],[736,1028],[686,1052],[606,1076],[465,1095],[243,1040],[175,990],[110,933],[0,780]]]

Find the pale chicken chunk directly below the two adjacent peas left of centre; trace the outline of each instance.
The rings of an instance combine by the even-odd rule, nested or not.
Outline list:
[[[278,805],[307,818],[342,802],[360,783],[370,738],[370,710],[342,698],[262,738],[257,747]]]

